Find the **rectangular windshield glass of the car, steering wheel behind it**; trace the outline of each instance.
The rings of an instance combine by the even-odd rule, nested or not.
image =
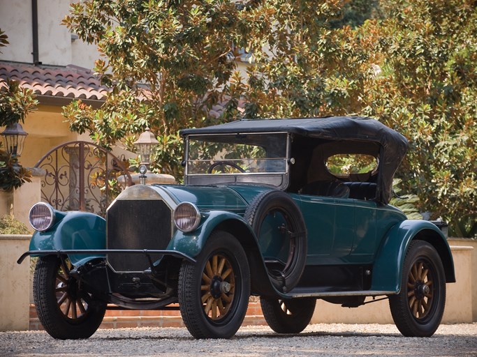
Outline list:
[[[189,136],[188,175],[286,172],[286,134]]]

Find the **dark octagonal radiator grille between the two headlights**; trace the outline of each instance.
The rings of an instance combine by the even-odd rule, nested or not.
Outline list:
[[[165,249],[172,234],[171,214],[161,199],[117,200],[107,214],[108,249]],[[115,271],[149,268],[143,255],[110,254],[107,259]]]

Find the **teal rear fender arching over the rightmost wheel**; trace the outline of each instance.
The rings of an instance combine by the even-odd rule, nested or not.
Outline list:
[[[455,282],[452,253],[441,230],[425,220],[404,220],[383,238],[374,261],[372,290],[399,293],[404,258],[413,239],[427,241],[436,248],[446,272],[446,282]]]

